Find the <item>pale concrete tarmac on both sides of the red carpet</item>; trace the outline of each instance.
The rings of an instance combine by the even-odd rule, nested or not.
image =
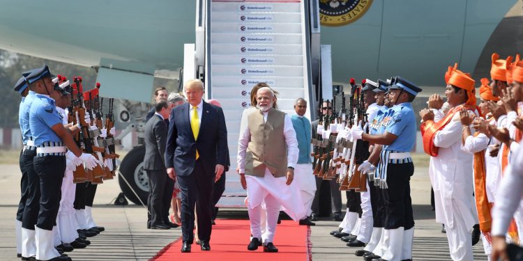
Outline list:
[[[413,260],[450,260],[446,235],[441,233],[441,224],[434,221],[434,212],[430,207],[430,179],[427,173],[427,168],[416,168],[411,179],[411,198],[416,219]],[[16,258],[14,229],[20,200],[20,169],[17,165],[0,166],[0,191],[0,260],[20,260]],[[181,236],[180,228],[146,229],[147,214],[142,206],[132,203],[125,207],[109,204],[119,192],[116,179],[98,187],[93,216],[98,226],[105,226],[106,230],[89,238],[92,244],[87,248],[68,253],[73,260],[149,260]],[[245,209],[224,210],[222,212],[220,209],[220,219],[248,218]],[[220,221],[217,223],[219,226]],[[340,239],[329,235],[339,222],[321,219],[316,223],[317,226],[311,227],[313,260],[363,260],[354,255],[357,248],[349,248]],[[245,235],[245,247],[248,236]],[[278,242],[275,245],[278,246]],[[481,242],[473,246],[473,251],[475,260],[487,260]]]

